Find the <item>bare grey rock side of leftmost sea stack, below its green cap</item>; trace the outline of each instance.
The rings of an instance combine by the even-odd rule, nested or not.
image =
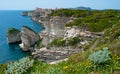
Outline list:
[[[15,42],[20,42],[20,41],[21,41],[20,32],[7,34],[8,43],[15,43]]]

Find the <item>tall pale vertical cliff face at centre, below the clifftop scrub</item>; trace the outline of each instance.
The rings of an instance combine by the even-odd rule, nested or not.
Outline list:
[[[41,32],[42,44],[47,45],[55,38],[64,37],[65,24],[70,20],[68,17],[40,17],[38,22],[43,23],[45,30]]]

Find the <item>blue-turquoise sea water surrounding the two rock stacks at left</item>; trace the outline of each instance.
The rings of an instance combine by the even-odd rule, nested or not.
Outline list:
[[[8,28],[14,27],[21,30],[23,25],[32,28],[39,33],[42,25],[31,20],[30,17],[21,16],[22,11],[0,11],[0,63],[18,60],[28,56],[27,52],[23,52],[18,44],[8,44],[6,40],[6,32]]]

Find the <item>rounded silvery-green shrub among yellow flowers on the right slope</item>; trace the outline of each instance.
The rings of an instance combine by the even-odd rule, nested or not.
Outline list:
[[[108,48],[105,47],[103,50],[99,50],[89,55],[88,59],[90,59],[94,64],[101,64],[106,63],[107,61],[111,60],[110,52]]]

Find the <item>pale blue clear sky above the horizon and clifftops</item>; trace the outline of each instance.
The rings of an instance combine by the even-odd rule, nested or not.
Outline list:
[[[120,0],[0,0],[0,10],[33,10],[40,8],[91,7],[120,9]]]

